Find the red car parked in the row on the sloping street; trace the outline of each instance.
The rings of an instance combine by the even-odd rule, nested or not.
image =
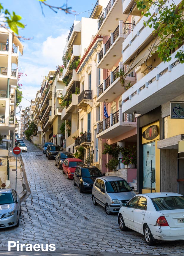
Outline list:
[[[79,158],[66,158],[63,162],[63,174],[66,173],[67,179],[73,179],[77,166],[85,166],[84,162]]]

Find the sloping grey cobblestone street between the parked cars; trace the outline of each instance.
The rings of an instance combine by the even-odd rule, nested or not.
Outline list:
[[[28,153],[22,159],[31,195],[21,204],[19,227],[1,229],[1,246],[19,241],[53,243],[56,249],[184,255],[183,241],[147,246],[143,235],[121,231],[117,214],[109,216],[104,208],[94,206],[91,194],[80,194],[54,160],[48,160],[32,143],[26,144]]]

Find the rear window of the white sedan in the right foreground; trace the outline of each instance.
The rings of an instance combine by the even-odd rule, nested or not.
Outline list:
[[[151,199],[156,211],[184,209],[184,197],[156,197]]]

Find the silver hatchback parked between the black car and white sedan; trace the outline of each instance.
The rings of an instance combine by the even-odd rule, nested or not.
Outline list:
[[[123,203],[127,203],[135,192],[128,182],[118,176],[97,178],[93,184],[93,204],[100,204],[107,214],[118,212]]]

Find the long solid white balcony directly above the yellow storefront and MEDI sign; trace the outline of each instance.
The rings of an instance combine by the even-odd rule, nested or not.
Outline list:
[[[170,56],[171,61],[161,62],[122,95],[124,112],[145,114],[181,94],[184,69],[175,55],[176,52]]]

